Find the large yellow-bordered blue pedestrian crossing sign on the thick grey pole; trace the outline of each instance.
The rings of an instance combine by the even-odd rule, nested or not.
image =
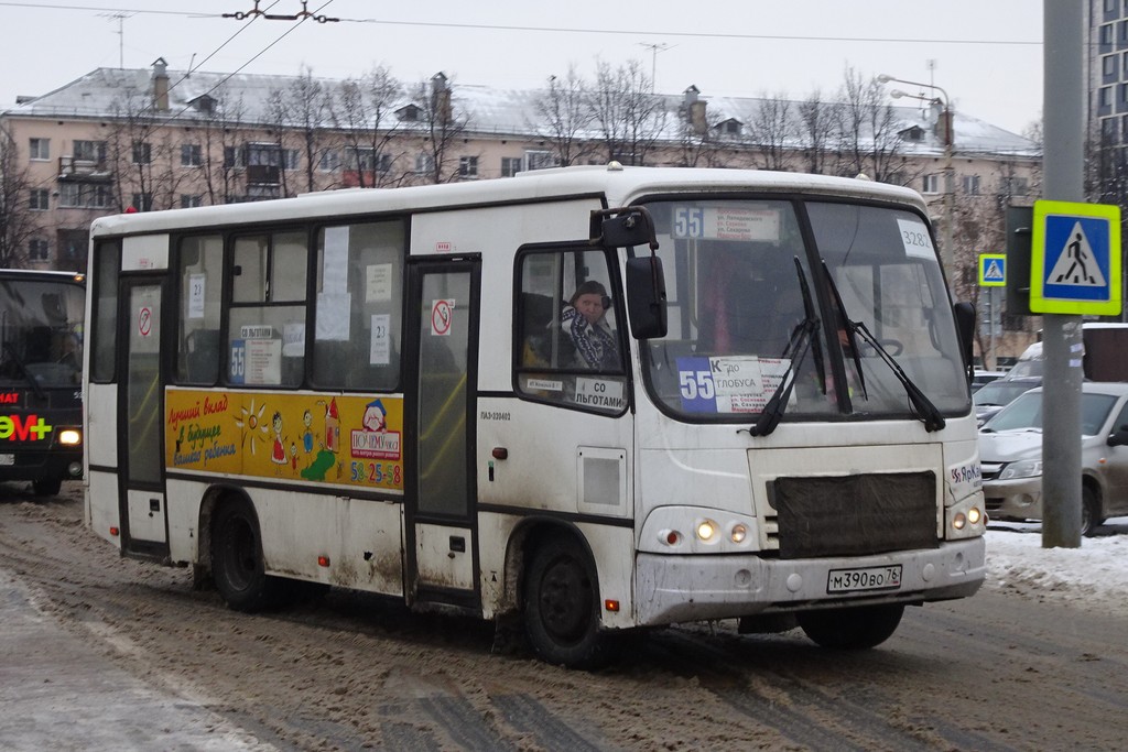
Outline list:
[[[1036,201],[1031,229],[1032,312],[1120,313],[1119,206]]]

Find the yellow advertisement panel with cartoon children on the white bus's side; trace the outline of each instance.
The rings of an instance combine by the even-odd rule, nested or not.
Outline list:
[[[403,490],[400,397],[169,389],[169,471]]]

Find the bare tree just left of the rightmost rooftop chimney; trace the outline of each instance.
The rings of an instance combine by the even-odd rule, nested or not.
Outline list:
[[[617,69],[600,61],[588,107],[608,159],[646,163],[646,154],[666,126],[667,110],[662,98],[651,91],[651,81],[637,60]]]

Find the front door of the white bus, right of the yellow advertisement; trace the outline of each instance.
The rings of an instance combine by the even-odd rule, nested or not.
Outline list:
[[[477,372],[476,259],[411,265],[415,368],[407,370],[406,592],[408,602],[475,607],[474,415]]]

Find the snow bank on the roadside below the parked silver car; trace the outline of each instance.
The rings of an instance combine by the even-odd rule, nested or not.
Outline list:
[[[1109,523],[1128,531],[1128,519]],[[1038,525],[993,527],[987,531],[985,587],[1128,614],[1128,536],[1098,536],[1084,538],[1081,548],[1046,549]]]

